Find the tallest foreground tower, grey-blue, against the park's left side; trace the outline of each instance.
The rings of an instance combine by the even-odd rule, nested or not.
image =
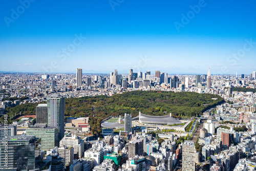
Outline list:
[[[47,98],[48,126],[58,127],[58,142],[65,133],[65,98],[53,94]]]

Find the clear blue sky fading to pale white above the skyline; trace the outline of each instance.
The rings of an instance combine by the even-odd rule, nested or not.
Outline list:
[[[255,8],[252,0],[5,0],[0,71],[249,74]]]

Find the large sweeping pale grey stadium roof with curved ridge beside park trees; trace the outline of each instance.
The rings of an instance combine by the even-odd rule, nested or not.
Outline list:
[[[155,123],[155,124],[175,124],[182,123],[181,121],[173,118],[170,115],[164,116],[150,116],[140,113],[139,121],[144,123]]]

